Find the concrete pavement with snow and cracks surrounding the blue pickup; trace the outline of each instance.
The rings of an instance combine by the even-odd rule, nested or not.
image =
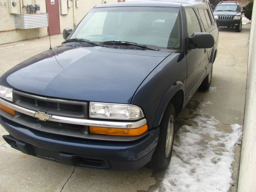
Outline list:
[[[245,23],[244,23],[245,24]],[[178,118],[172,162],[161,173],[145,167],[117,172],[73,167],[28,156],[0,138],[0,191],[237,191],[250,24],[219,29],[208,92],[197,92]],[[52,36],[52,45],[63,41]],[[0,75],[41,51],[49,38],[0,46]],[[7,132],[0,126],[0,135]]]

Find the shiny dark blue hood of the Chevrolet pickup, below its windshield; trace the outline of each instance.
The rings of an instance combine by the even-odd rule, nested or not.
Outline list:
[[[25,60],[0,83],[41,96],[131,103],[142,81],[169,54],[65,44]]]

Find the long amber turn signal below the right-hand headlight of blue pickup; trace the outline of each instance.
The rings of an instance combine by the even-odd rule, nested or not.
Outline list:
[[[147,132],[147,130],[147,124],[144,124],[135,129],[90,126],[90,133],[101,135],[139,136]]]

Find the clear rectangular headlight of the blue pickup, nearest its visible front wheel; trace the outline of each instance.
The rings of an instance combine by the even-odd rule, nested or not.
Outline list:
[[[144,117],[142,110],[131,104],[90,102],[90,118],[137,120]]]

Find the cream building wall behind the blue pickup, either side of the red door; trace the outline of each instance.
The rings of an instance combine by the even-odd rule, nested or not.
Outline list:
[[[55,0],[58,1],[58,0]],[[116,3],[117,0],[106,0],[106,3]],[[40,11],[37,13],[46,13],[45,0],[16,0],[17,14],[26,13],[26,9],[21,8],[20,5],[39,4]],[[65,28],[73,29],[80,20],[86,15],[94,6],[103,4],[102,0],[79,0],[79,7],[76,8],[75,0],[71,0],[71,7],[68,8],[67,15],[61,15],[60,18],[60,32]],[[74,6],[74,7],[73,7]],[[25,39],[37,38],[47,36],[47,27],[38,29],[15,29],[14,28],[14,14],[9,13],[8,0],[0,0],[0,45],[8,42],[15,42]]]

